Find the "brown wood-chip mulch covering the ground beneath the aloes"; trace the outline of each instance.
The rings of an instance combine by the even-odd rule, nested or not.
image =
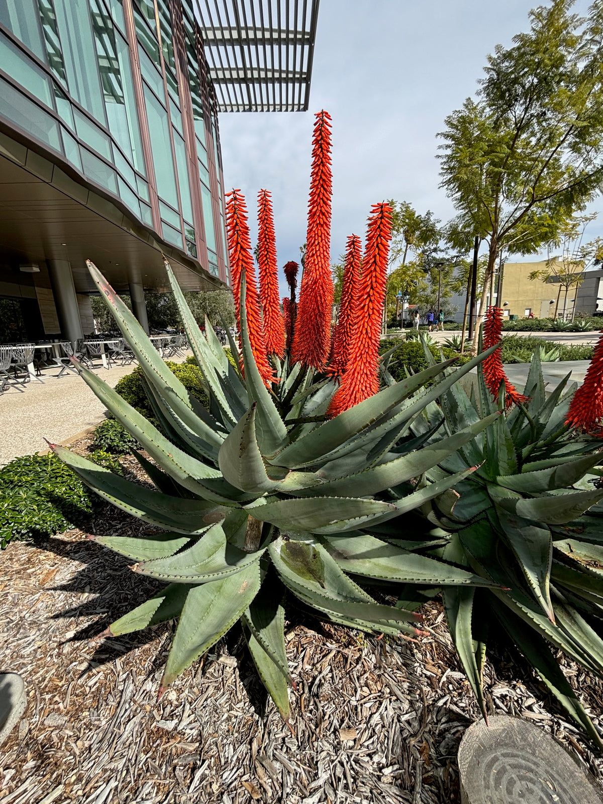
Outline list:
[[[135,471],[132,459],[122,464]],[[88,526],[140,531],[148,526],[109,505]],[[457,747],[479,712],[440,605],[425,607],[432,634],[419,642],[367,637],[289,607],[290,725],[266,699],[238,627],[157,703],[171,624],[91,640],[158,584],[86,535],[0,554],[2,669],[21,673],[28,693],[0,750],[0,804],[459,801]],[[564,667],[603,726],[603,685]],[[529,679],[508,656],[488,664],[491,711],[552,732],[601,781],[603,758]]]

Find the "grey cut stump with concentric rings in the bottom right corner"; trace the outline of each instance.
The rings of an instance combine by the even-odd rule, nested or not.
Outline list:
[[[601,804],[589,773],[526,720],[494,715],[467,729],[458,749],[463,804]]]

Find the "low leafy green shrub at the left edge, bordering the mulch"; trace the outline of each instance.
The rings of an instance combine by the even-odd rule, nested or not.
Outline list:
[[[0,548],[80,525],[97,500],[52,453],[18,457],[0,470]]]

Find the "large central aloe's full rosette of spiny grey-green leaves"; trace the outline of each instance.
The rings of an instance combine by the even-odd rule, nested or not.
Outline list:
[[[376,602],[351,575],[461,588],[494,585],[470,569],[359,533],[425,505],[474,472],[474,466],[463,466],[437,482],[412,485],[412,478],[482,433],[498,412],[441,439],[413,437],[410,427],[483,355],[445,376],[453,361],[429,367],[321,420],[336,383],[314,382],[312,371],[300,363],[289,366],[285,358],[279,382],[266,388],[241,303],[242,355],[235,343],[232,350],[237,363],[244,363],[243,379],[211,326],[205,335],[200,332],[166,265],[211,400],[207,410],[166,367],[98,270],[88,267],[142,367],[162,429],[92,371],[80,366],[80,374],[150,456],[136,453],[157,490],[68,449],[53,449],[100,497],[166,530],[142,538],[95,537],[135,561],[134,572],[166,583],[106,632],[117,636],[178,617],[162,689],[240,620],[260,678],[286,717],[285,591],[331,621],[379,634],[415,635],[422,630],[420,615]],[[243,281],[243,299],[244,293]]]

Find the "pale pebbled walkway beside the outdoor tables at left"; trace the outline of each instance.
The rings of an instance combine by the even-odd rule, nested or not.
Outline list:
[[[178,357],[170,360],[183,362]],[[136,366],[99,368],[95,373],[113,388]],[[43,383],[31,381],[23,393],[9,388],[0,394],[0,466],[15,457],[45,451],[44,438],[59,444],[105,418],[105,405],[80,376],[70,371],[57,379],[52,376],[57,371],[43,371]]]

